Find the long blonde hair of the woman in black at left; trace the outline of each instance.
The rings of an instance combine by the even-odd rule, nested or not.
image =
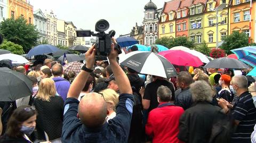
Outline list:
[[[41,99],[43,101],[50,102],[50,96],[56,95],[55,83],[50,78],[44,78],[39,83],[38,92],[36,98]]]

